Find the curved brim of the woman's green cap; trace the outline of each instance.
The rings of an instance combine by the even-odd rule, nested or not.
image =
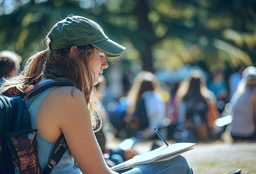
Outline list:
[[[101,42],[92,43],[96,48],[106,52],[106,57],[118,57],[125,52],[125,47],[119,45],[113,40],[107,39]]]

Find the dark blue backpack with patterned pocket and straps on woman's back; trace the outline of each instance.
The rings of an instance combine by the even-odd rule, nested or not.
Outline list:
[[[32,129],[26,100],[52,86],[72,86],[50,80],[32,86],[25,93],[9,88],[0,95],[0,174],[49,174],[67,150],[64,135],[55,144],[48,165],[38,161],[37,129]]]

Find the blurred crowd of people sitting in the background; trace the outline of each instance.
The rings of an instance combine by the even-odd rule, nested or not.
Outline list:
[[[0,85],[17,74],[21,60],[13,51],[0,52]],[[154,128],[175,142],[219,140],[224,131],[234,141],[255,141],[256,68],[238,66],[228,81],[218,67],[209,74],[207,80],[207,73],[192,69],[171,89],[155,74],[140,71],[132,81],[123,80],[119,98],[111,95],[102,76],[95,86],[103,120],[96,137],[102,152],[110,155],[106,158],[115,164],[132,158],[137,154],[131,148],[134,143],[159,138]],[[106,148],[111,136],[124,140],[115,151]]]

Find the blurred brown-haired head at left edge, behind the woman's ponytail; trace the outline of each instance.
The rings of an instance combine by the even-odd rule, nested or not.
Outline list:
[[[20,69],[22,58],[14,51],[1,51],[0,52],[0,86],[3,78],[7,78],[17,74]]]

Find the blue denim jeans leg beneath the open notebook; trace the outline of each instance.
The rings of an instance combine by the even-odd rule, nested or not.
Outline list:
[[[119,174],[193,174],[192,167],[183,156],[171,160],[149,163],[117,171]]]

